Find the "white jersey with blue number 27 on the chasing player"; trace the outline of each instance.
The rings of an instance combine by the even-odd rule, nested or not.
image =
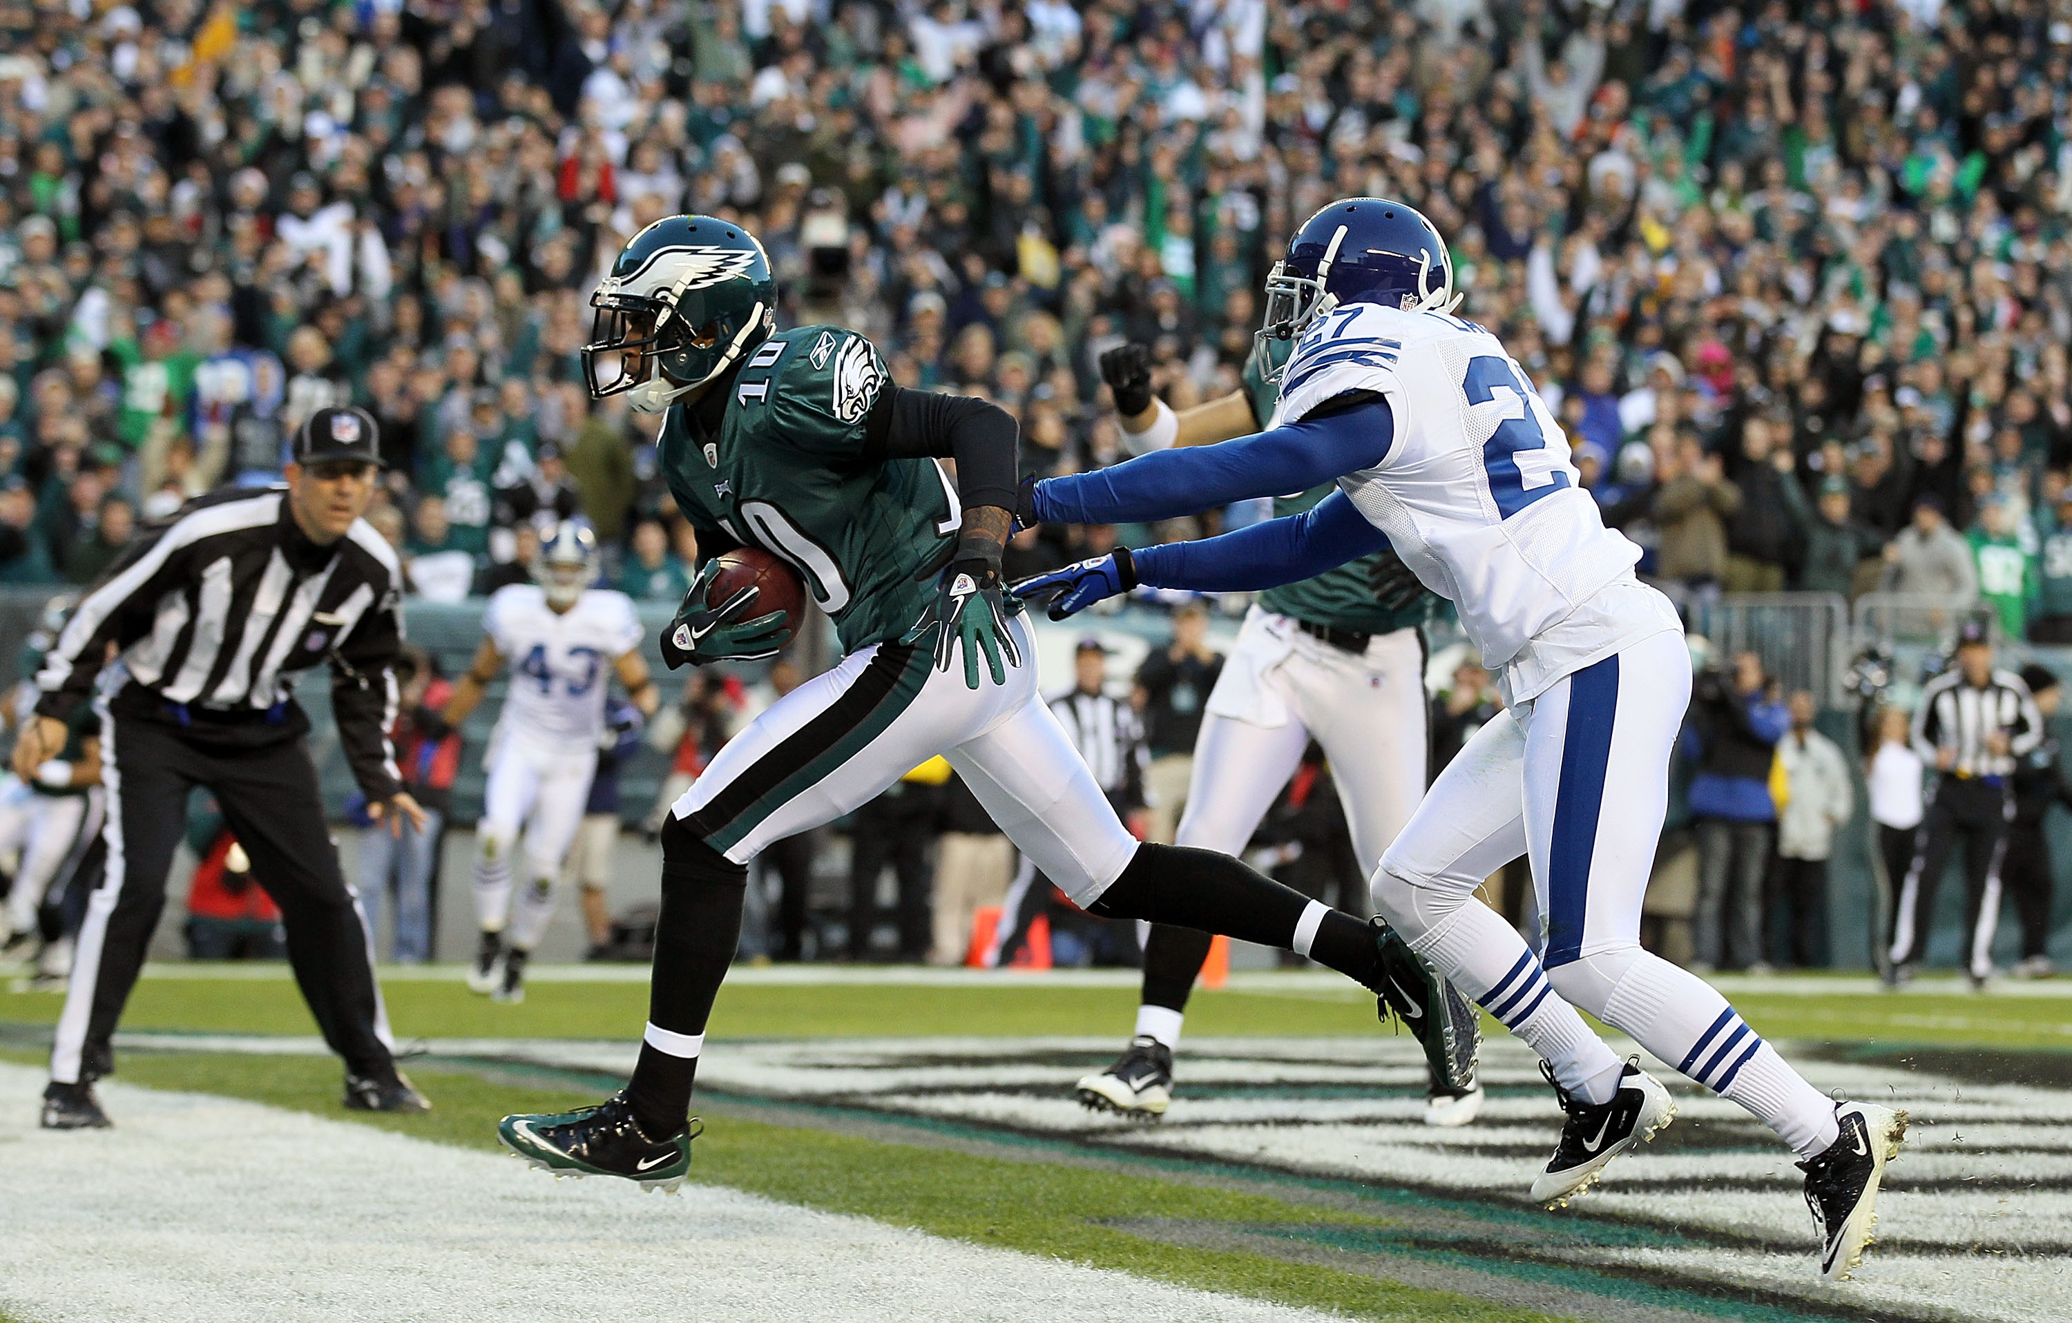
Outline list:
[[[1397,433],[1380,464],[1339,487],[1459,607],[1492,671],[1641,559],[1604,526],[1554,414],[1484,327],[1372,302],[1334,308],[1289,356],[1272,424],[1347,391],[1384,395]]]

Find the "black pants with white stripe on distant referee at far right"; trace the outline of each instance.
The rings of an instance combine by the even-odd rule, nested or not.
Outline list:
[[[1999,923],[1999,865],[2008,849],[2014,795],[2004,783],[1941,776],[1929,797],[1915,859],[1892,907],[1892,963],[1915,965],[1927,954],[1935,923],[1935,888],[1950,853],[1964,847],[1964,969],[1993,973],[1993,928]]]

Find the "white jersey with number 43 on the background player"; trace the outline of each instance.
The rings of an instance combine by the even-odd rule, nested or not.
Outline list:
[[[640,646],[640,617],[624,592],[586,588],[555,613],[537,584],[497,588],[483,617],[489,642],[510,658],[510,694],[497,727],[506,735],[595,743],[605,729],[611,663]]]

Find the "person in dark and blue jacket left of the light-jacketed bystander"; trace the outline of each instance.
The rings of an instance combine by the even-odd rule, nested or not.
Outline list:
[[[1763,663],[1736,652],[1732,671],[1705,671],[1691,692],[1685,727],[1695,745],[1691,818],[1697,826],[1699,892],[1693,946],[1699,971],[1763,961],[1763,872],[1778,803],[1769,793],[1778,739],[1790,712],[1769,694]]]

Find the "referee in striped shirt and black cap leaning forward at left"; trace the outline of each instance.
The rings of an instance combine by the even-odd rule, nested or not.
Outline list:
[[[396,553],[361,513],[381,468],[365,410],[323,408],[292,445],[286,487],[201,497],[137,542],[81,598],[35,683],[35,718],[15,743],[33,774],[85,702],[102,716],[108,865],[79,930],[58,1019],[44,1126],[106,1126],[93,1081],[114,1070],[110,1037],[166,907],[166,872],[186,797],[215,793],[274,896],[288,961],[323,1039],[346,1062],[346,1106],[421,1112],[396,1072],[373,944],[338,868],[292,677],[332,667],[332,708],[369,812],[423,826],[387,729],[402,648]],[[120,667],[106,667],[110,658]]]

